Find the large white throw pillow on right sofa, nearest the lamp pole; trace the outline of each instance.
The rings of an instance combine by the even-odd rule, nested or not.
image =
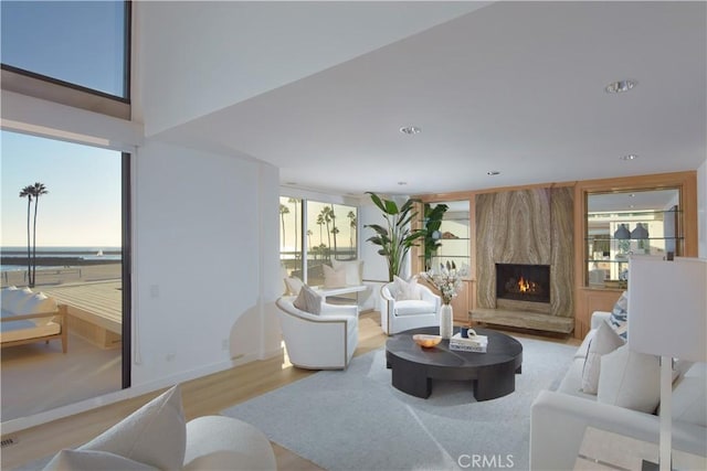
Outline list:
[[[657,356],[620,346],[601,357],[597,400],[653,414],[661,402],[661,363]]]

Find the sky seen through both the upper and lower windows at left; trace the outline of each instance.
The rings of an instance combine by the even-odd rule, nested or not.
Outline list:
[[[123,95],[124,3],[122,1],[6,1],[1,8],[3,64]],[[38,247],[122,245],[120,152],[0,133],[0,245],[27,247],[28,200],[39,200]],[[33,206],[33,204],[32,204]]]

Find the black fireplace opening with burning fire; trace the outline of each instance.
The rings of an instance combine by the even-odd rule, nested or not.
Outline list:
[[[496,298],[550,302],[550,266],[496,264]]]

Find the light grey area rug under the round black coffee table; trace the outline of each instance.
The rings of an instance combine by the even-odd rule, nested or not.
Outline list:
[[[457,382],[433,382],[428,399],[401,393],[380,349],[221,414],[329,471],[458,470],[473,460],[474,469],[528,469],[530,405],[557,387],[577,347],[518,340],[516,392],[493,400],[477,403]]]

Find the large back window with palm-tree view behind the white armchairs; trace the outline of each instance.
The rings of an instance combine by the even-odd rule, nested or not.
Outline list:
[[[356,206],[282,196],[279,216],[281,261],[286,276],[318,286],[324,283],[323,265],[357,258]]]

